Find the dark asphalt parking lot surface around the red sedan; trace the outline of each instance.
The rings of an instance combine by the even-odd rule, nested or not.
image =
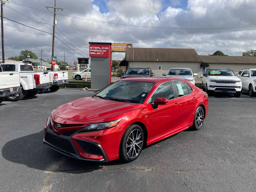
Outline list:
[[[92,96],[64,90],[0,104],[0,191],[256,191],[256,98],[209,96],[204,127],[153,144],[137,160],[96,164],[44,146],[57,106]]]

